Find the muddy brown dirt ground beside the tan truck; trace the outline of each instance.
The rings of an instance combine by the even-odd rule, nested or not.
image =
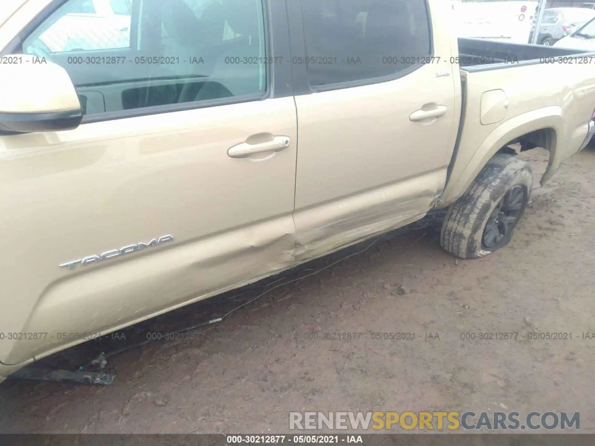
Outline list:
[[[48,360],[76,369],[99,351],[221,316],[218,324],[109,358],[109,387],[6,381],[4,433],[287,433],[290,411],[532,410],[581,412],[595,428],[595,152],[536,189],[513,241],[480,260],[438,243],[439,216],[325,257],[267,284],[218,296]],[[514,340],[461,334],[518,332]],[[326,340],[322,333],[364,333]],[[405,332],[415,339],[372,339]],[[528,340],[571,332],[572,340]],[[315,339],[318,333],[318,339]],[[427,334],[432,335],[432,339]],[[410,335],[411,337],[411,335]],[[310,339],[312,338],[312,339]]]

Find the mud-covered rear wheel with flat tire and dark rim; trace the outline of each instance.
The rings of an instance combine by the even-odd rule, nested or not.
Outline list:
[[[495,155],[465,194],[447,209],[441,246],[461,259],[484,257],[506,246],[527,208],[532,187],[533,169],[527,161],[516,155]],[[516,207],[519,209],[513,209]],[[494,231],[502,238],[494,237]]]

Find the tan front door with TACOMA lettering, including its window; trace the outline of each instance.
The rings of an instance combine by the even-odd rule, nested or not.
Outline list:
[[[15,15],[30,23],[24,51],[79,2]],[[0,136],[2,331],[46,334],[5,337],[5,364],[293,265],[284,3],[131,5],[131,43],[112,48],[120,59],[109,48],[46,55],[87,96],[82,125]],[[75,37],[101,39],[64,39]]]

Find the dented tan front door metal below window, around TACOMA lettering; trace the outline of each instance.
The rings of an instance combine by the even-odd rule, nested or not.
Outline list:
[[[175,114],[167,127],[149,115],[0,137],[0,228],[12,234],[1,295],[18,296],[2,311],[2,332],[16,335],[0,340],[0,363],[39,359],[293,266],[295,144],[272,157],[227,155],[263,121],[295,141],[293,98]],[[174,240],[58,266],[159,234]]]

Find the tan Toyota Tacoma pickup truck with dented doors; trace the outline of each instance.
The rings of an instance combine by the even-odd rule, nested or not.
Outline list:
[[[509,146],[543,184],[595,129],[595,53],[457,39],[443,0],[126,5],[127,46],[88,0],[0,7],[0,380],[431,209],[488,255],[530,199]]]

